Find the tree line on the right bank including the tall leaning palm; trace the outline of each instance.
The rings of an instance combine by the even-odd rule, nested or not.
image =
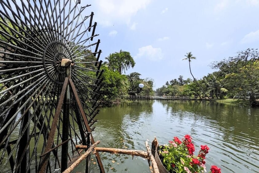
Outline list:
[[[186,60],[190,62],[195,57],[191,52],[187,53]],[[217,70],[209,73],[202,79],[184,80],[183,76],[166,82],[161,88],[156,89],[157,95],[166,96],[191,96],[204,98],[239,98],[256,104],[256,96],[259,88],[259,52],[257,49],[247,49],[237,52],[234,57],[225,58],[222,61],[212,62],[211,68]]]

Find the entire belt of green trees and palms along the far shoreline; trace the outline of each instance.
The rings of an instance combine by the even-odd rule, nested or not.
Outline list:
[[[81,61],[87,62],[94,57],[86,56]],[[259,52],[257,49],[246,49],[237,52],[234,57],[225,58],[218,62],[211,62],[210,67],[215,71],[208,73],[201,79],[195,78],[191,71],[191,62],[195,60],[191,52],[185,55],[191,78],[178,78],[166,81],[165,85],[153,90],[155,81],[152,78],[140,78],[141,74],[133,72],[128,75],[125,72],[134,68],[135,61],[130,52],[114,52],[105,58],[101,64],[103,70],[98,100],[99,107],[110,107],[118,104],[128,104],[131,100],[127,96],[177,96],[198,98],[200,100],[217,101],[220,103],[246,104],[259,106]],[[95,70],[94,66],[84,65]],[[94,77],[91,71],[83,72],[87,76]],[[143,88],[139,88],[143,84]],[[91,87],[91,86],[89,86]],[[80,91],[79,91],[80,92]],[[95,93],[87,93],[91,98]],[[121,97],[126,96],[126,97]],[[87,100],[87,99],[86,99]]]

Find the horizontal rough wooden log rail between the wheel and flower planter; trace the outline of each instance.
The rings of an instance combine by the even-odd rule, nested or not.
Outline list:
[[[81,147],[81,145],[80,145],[80,147]],[[109,153],[112,153],[112,154],[127,154],[127,155],[132,155],[132,156],[140,156],[140,157],[143,157],[143,158],[148,158],[147,152],[141,151],[141,150],[95,147],[94,152],[95,151],[97,151],[97,152],[109,152]]]

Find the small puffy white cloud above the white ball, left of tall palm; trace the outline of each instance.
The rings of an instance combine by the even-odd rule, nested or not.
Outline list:
[[[163,58],[163,53],[161,48],[155,48],[151,45],[140,47],[139,53],[135,56],[135,58],[147,58],[151,61],[158,61]]]

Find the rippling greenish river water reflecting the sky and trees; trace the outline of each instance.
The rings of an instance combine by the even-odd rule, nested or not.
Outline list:
[[[144,150],[157,137],[166,144],[174,136],[190,134],[195,155],[208,145],[207,171],[217,165],[222,173],[259,172],[259,108],[205,101],[135,100],[106,107],[97,115],[93,132],[100,147]],[[150,172],[147,160],[100,153],[107,172]],[[92,172],[100,172],[94,159]],[[84,166],[77,171],[84,171]],[[75,171],[76,171],[75,170]]]

